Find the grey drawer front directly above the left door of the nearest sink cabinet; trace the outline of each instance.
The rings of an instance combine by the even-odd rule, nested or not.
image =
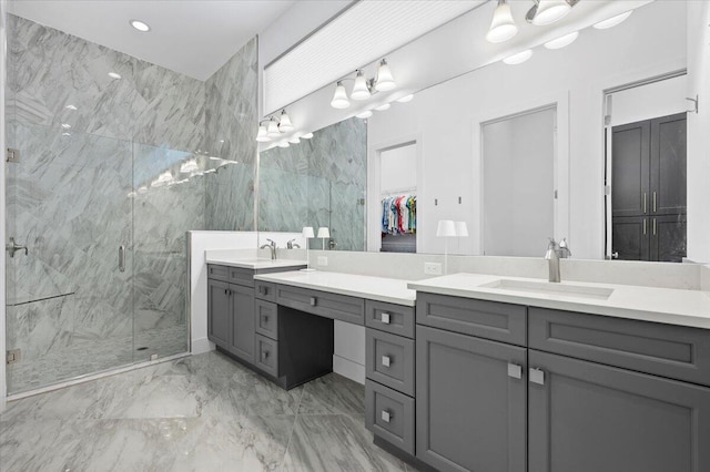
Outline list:
[[[417,324],[525,346],[527,307],[417,293]]]

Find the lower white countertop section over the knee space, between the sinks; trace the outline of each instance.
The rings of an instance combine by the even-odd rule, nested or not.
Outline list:
[[[407,288],[407,280],[328,271],[288,271],[254,276],[257,280],[291,285],[351,297],[413,307],[416,293]]]

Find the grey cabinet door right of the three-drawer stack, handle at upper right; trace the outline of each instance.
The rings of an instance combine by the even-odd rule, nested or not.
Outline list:
[[[526,349],[416,329],[416,455],[440,471],[526,470]]]

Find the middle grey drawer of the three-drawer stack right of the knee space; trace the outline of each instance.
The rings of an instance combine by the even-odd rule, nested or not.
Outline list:
[[[414,396],[414,341],[367,329],[365,372],[368,379]]]

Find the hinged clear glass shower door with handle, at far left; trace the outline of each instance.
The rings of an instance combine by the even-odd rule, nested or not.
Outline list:
[[[9,393],[131,363],[131,143],[11,120],[8,146]]]

